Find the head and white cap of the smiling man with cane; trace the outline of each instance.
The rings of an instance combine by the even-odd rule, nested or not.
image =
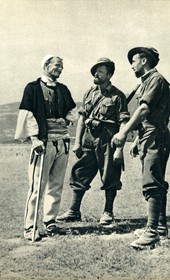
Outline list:
[[[53,57],[50,63],[45,67],[47,76],[52,78],[53,80],[59,78],[62,70],[63,70],[63,62],[61,59],[57,57]]]

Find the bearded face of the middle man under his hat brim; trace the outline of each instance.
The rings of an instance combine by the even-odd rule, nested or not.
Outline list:
[[[109,81],[111,74],[107,73],[107,68],[105,65],[98,66],[94,75],[94,84],[102,85],[103,83]]]

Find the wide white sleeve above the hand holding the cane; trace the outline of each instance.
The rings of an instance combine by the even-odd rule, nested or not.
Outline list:
[[[25,141],[30,136],[38,135],[38,132],[38,124],[33,113],[23,109],[19,110],[14,139]]]

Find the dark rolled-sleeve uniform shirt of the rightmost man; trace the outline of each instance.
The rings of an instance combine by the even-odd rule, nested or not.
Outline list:
[[[166,79],[154,68],[142,77],[138,105],[146,103],[149,114],[138,126],[140,138],[148,138],[167,131],[170,115],[170,88]]]

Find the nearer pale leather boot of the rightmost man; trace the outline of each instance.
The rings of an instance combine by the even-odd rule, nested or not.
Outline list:
[[[147,246],[151,246],[152,248],[154,245],[160,241],[159,233],[157,230],[147,227],[146,230],[140,235],[140,237],[134,240],[130,246],[135,249],[144,249]]]

